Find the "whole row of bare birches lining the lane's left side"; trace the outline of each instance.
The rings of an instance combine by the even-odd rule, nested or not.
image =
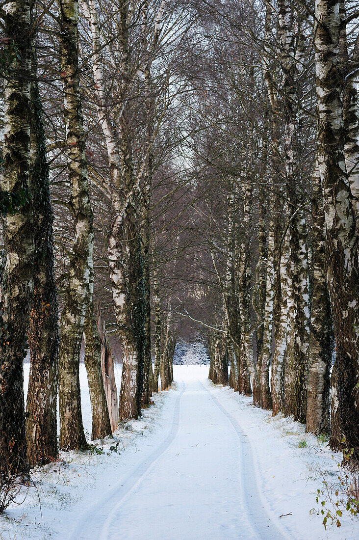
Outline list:
[[[151,361],[153,146],[169,102],[166,64],[161,71],[152,64],[166,36],[165,6],[19,0],[1,10],[2,477],[56,459],[58,448],[86,448],[83,339],[93,439],[110,435],[118,420],[137,418],[158,390],[159,373],[162,389],[173,380],[171,309],[164,312],[158,293],[155,374]],[[94,303],[104,270],[123,362],[118,415],[106,383],[110,344]]]

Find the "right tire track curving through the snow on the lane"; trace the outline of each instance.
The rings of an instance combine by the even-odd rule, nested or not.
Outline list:
[[[204,384],[198,380],[201,387],[211,396],[213,403],[218,407],[223,416],[231,424],[240,442],[241,451],[241,478],[243,479],[243,501],[247,507],[247,516],[249,516],[250,524],[255,530],[260,540],[293,540],[290,532],[278,521],[278,518],[272,516],[272,510],[268,508],[268,502],[262,495],[259,485],[259,478],[253,462],[253,448],[246,433],[235,420],[234,416],[222,406],[216,397],[213,396],[211,390],[206,388]],[[247,448],[246,448],[247,447]]]

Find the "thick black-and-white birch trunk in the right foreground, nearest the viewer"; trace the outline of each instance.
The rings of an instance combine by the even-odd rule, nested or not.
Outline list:
[[[343,73],[339,58],[339,2],[317,0],[314,34],[317,155],[327,227],[327,282],[333,308],[336,360],[331,384],[332,448],[359,458],[358,237],[344,160]]]

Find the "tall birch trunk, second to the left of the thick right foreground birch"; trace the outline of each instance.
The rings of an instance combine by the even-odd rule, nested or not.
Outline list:
[[[306,247],[306,221],[301,195],[301,169],[298,139],[300,136],[299,102],[301,99],[301,72],[303,65],[302,11],[294,17],[292,4],[279,1],[281,33],[281,66],[283,71],[283,157],[286,165],[287,197],[289,200],[289,272],[291,295],[287,298],[289,331],[287,333],[285,414],[305,422],[307,405],[307,374],[309,345],[309,293],[308,259]],[[294,34],[296,26],[297,35]]]

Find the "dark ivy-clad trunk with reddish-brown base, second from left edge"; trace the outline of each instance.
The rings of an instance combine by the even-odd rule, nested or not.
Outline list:
[[[35,43],[32,76],[36,79]],[[38,83],[31,83],[31,171],[35,259],[30,313],[30,377],[26,442],[33,467],[57,456],[58,306],[53,257],[53,211]]]

